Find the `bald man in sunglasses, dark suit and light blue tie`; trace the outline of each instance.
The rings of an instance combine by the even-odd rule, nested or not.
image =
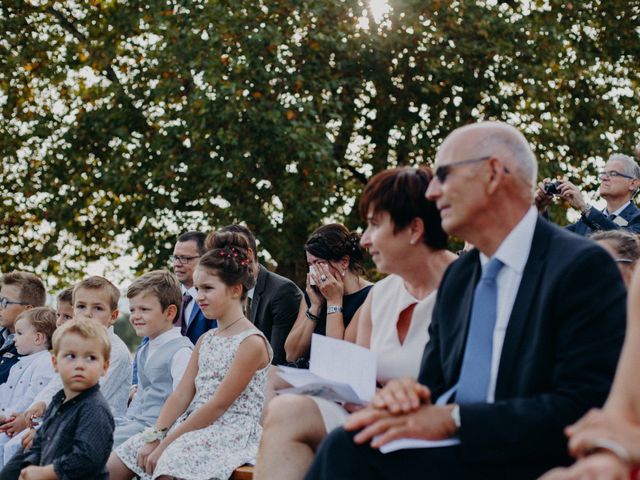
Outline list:
[[[427,198],[476,248],[444,275],[418,382],[388,383],[334,430],[308,479],[537,478],[571,462],[564,427],[609,392],[625,288],[603,249],[538,216],[524,136],[459,128],[436,167]],[[457,444],[378,450],[400,438]]]

